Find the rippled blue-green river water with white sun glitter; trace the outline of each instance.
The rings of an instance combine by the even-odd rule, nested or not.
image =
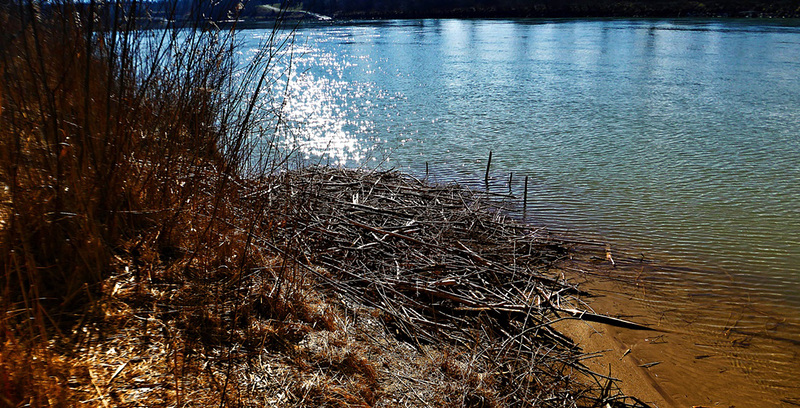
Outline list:
[[[483,188],[491,151],[491,189],[528,177],[531,222],[797,328],[800,22],[321,24],[292,52],[286,137],[308,159]]]

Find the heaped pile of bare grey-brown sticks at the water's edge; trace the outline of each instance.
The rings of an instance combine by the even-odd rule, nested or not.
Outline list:
[[[504,404],[630,401],[551,327],[604,317],[552,272],[569,245],[545,229],[506,219],[481,192],[398,172],[312,167],[271,185],[261,199],[284,213],[293,257],[324,267],[319,279],[345,303],[380,310],[398,338],[471,350],[476,369],[505,384]],[[574,384],[578,372],[589,386]]]

